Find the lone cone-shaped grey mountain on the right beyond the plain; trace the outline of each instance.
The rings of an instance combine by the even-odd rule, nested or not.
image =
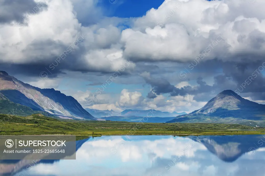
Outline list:
[[[199,110],[177,116],[172,122],[241,123],[265,120],[265,105],[242,98],[231,90],[219,93]]]

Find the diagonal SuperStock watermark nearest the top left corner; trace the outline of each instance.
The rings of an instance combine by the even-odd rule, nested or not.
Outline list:
[[[41,11],[41,8],[46,7],[48,1],[50,1],[50,0],[43,0],[42,2],[37,3],[36,7],[34,7],[31,10],[32,13],[29,12],[29,14],[27,14],[25,16],[25,18],[23,17],[23,19],[24,19],[23,21],[18,21],[17,22],[17,24],[16,24],[17,28],[23,29],[25,27],[25,25],[29,23],[27,20],[30,20],[34,15],[36,15],[38,12],[40,12]]]

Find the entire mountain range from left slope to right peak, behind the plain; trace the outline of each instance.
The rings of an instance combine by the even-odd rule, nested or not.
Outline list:
[[[65,119],[138,121],[149,117],[147,122],[182,123],[239,123],[265,126],[265,105],[242,98],[226,90],[212,98],[199,110],[189,114],[162,112],[157,110],[113,110],[84,109],[71,96],[55,89],[41,89],[17,80],[0,71],[0,113],[27,116],[41,113]]]

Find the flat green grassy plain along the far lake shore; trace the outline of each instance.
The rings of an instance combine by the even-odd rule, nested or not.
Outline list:
[[[245,130],[245,131],[244,131]],[[248,130],[248,131],[246,131]],[[255,130],[255,131],[253,131]],[[142,123],[58,120],[41,114],[0,114],[0,135],[239,135],[265,134],[265,128],[219,123]]]

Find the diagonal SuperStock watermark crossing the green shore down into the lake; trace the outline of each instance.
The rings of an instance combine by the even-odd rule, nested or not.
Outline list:
[[[130,139],[129,135],[134,135],[136,133],[136,130],[139,130],[141,128],[141,124],[144,124],[143,122],[147,122],[148,118],[153,116],[153,109],[150,110],[147,115],[145,117],[143,117],[138,123],[136,123],[136,125],[134,127],[131,128],[131,130],[129,131],[129,133],[126,134],[126,139],[121,139],[118,143],[116,143],[114,146],[112,146],[109,149],[109,153],[111,155],[116,155],[118,153],[118,149],[121,148],[121,146],[123,146],[125,144],[125,142]]]

